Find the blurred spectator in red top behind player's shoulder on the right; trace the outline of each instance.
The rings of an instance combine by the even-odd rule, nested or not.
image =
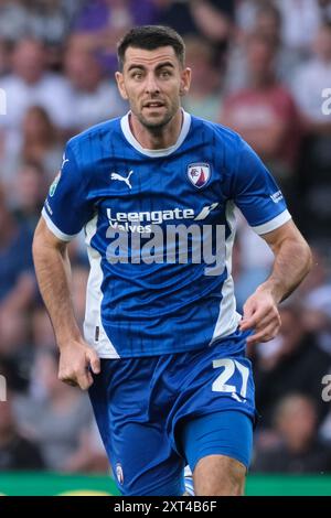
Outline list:
[[[295,101],[275,75],[275,47],[253,33],[247,42],[249,84],[224,99],[221,122],[253,147],[289,196],[299,133]]]

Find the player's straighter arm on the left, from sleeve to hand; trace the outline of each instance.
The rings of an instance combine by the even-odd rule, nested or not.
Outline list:
[[[58,239],[42,217],[33,240],[33,259],[39,288],[49,311],[60,348],[58,378],[86,390],[93,373],[99,373],[96,352],[83,339],[72,303],[67,242]]]

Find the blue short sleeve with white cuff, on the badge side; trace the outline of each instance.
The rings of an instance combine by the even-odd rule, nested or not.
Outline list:
[[[275,230],[291,219],[282,193],[274,177],[244,141],[241,141],[232,197],[257,234]]]

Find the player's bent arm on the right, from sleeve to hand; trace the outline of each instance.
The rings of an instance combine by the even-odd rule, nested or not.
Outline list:
[[[292,220],[261,237],[271,248],[275,261],[270,277],[244,305],[241,330],[254,330],[247,339],[249,345],[276,336],[280,327],[277,305],[300,284],[312,263],[310,248]]]

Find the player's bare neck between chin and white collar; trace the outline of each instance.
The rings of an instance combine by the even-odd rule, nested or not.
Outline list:
[[[167,149],[178,141],[183,123],[183,112],[179,109],[168,125],[161,128],[146,128],[132,112],[129,117],[129,123],[134,137],[142,148],[149,150]]]

